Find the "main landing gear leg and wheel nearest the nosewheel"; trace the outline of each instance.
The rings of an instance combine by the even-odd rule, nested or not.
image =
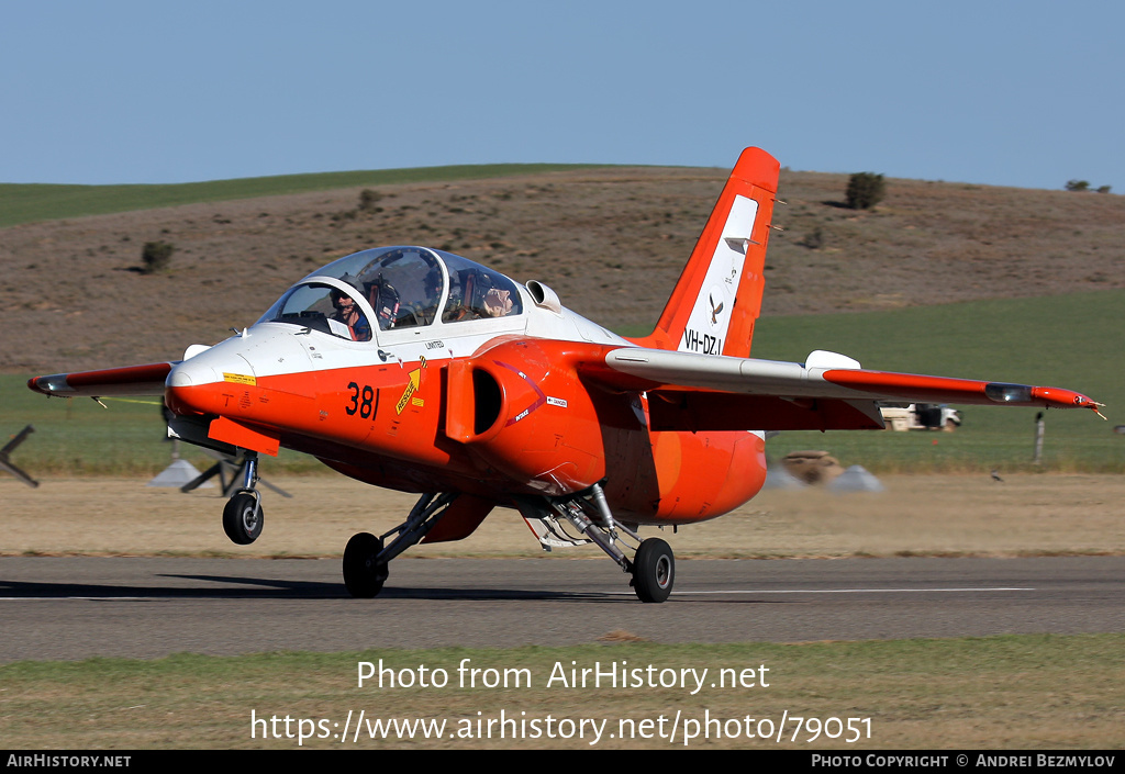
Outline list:
[[[348,593],[360,598],[378,595],[387,580],[387,565],[390,560],[424,538],[446,515],[454,500],[457,493],[424,494],[411,508],[406,521],[389,532],[378,538],[370,532],[352,536],[344,548],[344,586],[348,587]],[[389,546],[385,546],[390,536],[397,537]]]

